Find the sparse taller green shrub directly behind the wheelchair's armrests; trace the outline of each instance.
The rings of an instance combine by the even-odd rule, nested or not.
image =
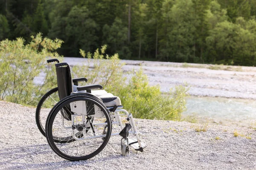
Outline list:
[[[87,60],[83,65],[75,65],[72,68],[73,77],[86,77],[86,84],[100,84],[104,88],[111,88],[122,80],[122,65],[118,54],[113,56],[105,55],[107,46],[103,45],[100,52],[97,49],[93,54],[85,54],[80,50],[80,54]]]

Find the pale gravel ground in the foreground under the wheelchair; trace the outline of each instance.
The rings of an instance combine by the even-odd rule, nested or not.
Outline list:
[[[72,162],[50,149],[37,129],[35,108],[0,101],[0,117],[0,169],[3,170],[256,169],[253,129],[209,126],[207,132],[196,132],[197,124],[135,119],[140,138],[148,145],[143,153],[131,149],[128,156],[121,156],[121,138],[113,136],[97,156]],[[235,130],[242,135],[234,137]],[[217,136],[219,140],[215,139]]]

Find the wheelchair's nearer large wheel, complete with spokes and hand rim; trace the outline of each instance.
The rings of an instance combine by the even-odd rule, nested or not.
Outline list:
[[[61,112],[67,108],[72,121],[63,122]],[[72,142],[56,142],[56,139],[66,136],[73,136]],[[96,156],[104,149],[110,136],[111,118],[107,108],[99,99],[87,94],[62,99],[47,118],[47,142],[58,156],[67,160],[79,161]]]

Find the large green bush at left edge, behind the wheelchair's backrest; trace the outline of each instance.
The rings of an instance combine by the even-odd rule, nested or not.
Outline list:
[[[25,45],[23,38],[0,42],[0,99],[23,105],[37,105],[41,96],[56,86],[55,68],[47,65],[49,56],[61,58],[51,51],[61,46],[62,40],[32,36]],[[35,84],[35,77],[45,79]]]

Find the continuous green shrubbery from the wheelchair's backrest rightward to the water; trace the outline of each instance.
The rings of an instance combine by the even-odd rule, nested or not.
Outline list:
[[[148,77],[142,69],[133,72],[129,83],[126,84],[126,74],[122,72],[122,63],[118,54],[105,55],[106,46],[101,52],[97,49],[94,54],[80,50],[87,60],[83,65],[72,68],[73,77],[86,77],[87,84],[101,84],[106,91],[119,96],[122,105],[135,118],[180,120],[181,113],[186,109],[187,88],[183,86],[170,89],[169,94],[163,95],[159,86],[148,85]]]

